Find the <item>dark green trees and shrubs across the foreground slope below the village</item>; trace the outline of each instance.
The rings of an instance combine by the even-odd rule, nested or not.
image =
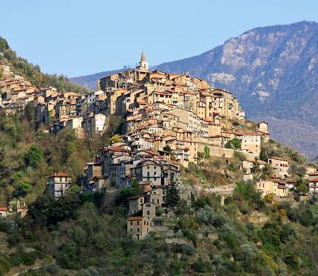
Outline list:
[[[22,221],[0,220],[14,249],[0,256],[0,271],[37,263],[40,268],[28,275],[317,274],[317,198],[267,205],[252,183],[240,182],[223,207],[216,195],[185,202],[171,190],[175,214],[165,217],[158,208],[155,225],[187,241],[177,244],[154,232],[142,241],[126,238],[126,199],[139,193],[132,180],[131,188],[112,195],[74,190],[58,201],[40,195]]]

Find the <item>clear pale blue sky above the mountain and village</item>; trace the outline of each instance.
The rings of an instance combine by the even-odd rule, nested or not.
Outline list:
[[[0,1],[0,35],[47,73],[192,57],[259,26],[318,21],[318,1]]]

